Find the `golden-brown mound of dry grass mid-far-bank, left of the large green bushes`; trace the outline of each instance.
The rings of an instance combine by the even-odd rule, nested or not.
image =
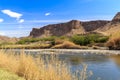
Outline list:
[[[74,44],[70,41],[64,41],[61,44],[55,45],[52,48],[58,48],[58,49],[80,49],[81,47],[79,45]]]

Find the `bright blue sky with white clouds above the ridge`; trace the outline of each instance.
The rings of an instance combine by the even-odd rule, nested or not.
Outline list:
[[[70,20],[112,20],[120,0],[0,0],[0,35],[28,36],[32,28]]]

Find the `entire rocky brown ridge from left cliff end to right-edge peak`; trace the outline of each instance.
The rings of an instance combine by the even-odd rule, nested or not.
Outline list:
[[[51,24],[41,28],[33,28],[30,32],[31,37],[48,37],[48,36],[72,36],[75,34],[102,33],[111,35],[120,31],[120,12],[111,20],[96,21],[78,21],[72,20],[66,23]]]

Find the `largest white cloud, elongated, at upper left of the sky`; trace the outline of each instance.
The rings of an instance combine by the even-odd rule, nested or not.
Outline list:
[[[8,16],[10,16],[10,17],[12,17],[12,18],[16,18],[17,20],[19,20],[21,18],[21,16],[22,16],[22,14],[20,14],[20,13],[13,12],[13,11],[7,10],[7,9],[1,10],[1,12],[8,15]]]

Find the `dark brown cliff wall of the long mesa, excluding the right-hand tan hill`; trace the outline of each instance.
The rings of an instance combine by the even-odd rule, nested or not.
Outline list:
[[[33,28],[30,32],[31,37],[48,37],[48,36],[72,36],[75,34],[85,34],[99,27],[104,26],[109,21],[89,21],[80,22],[72,20],[67,23],[47,25],[42,28]]]

